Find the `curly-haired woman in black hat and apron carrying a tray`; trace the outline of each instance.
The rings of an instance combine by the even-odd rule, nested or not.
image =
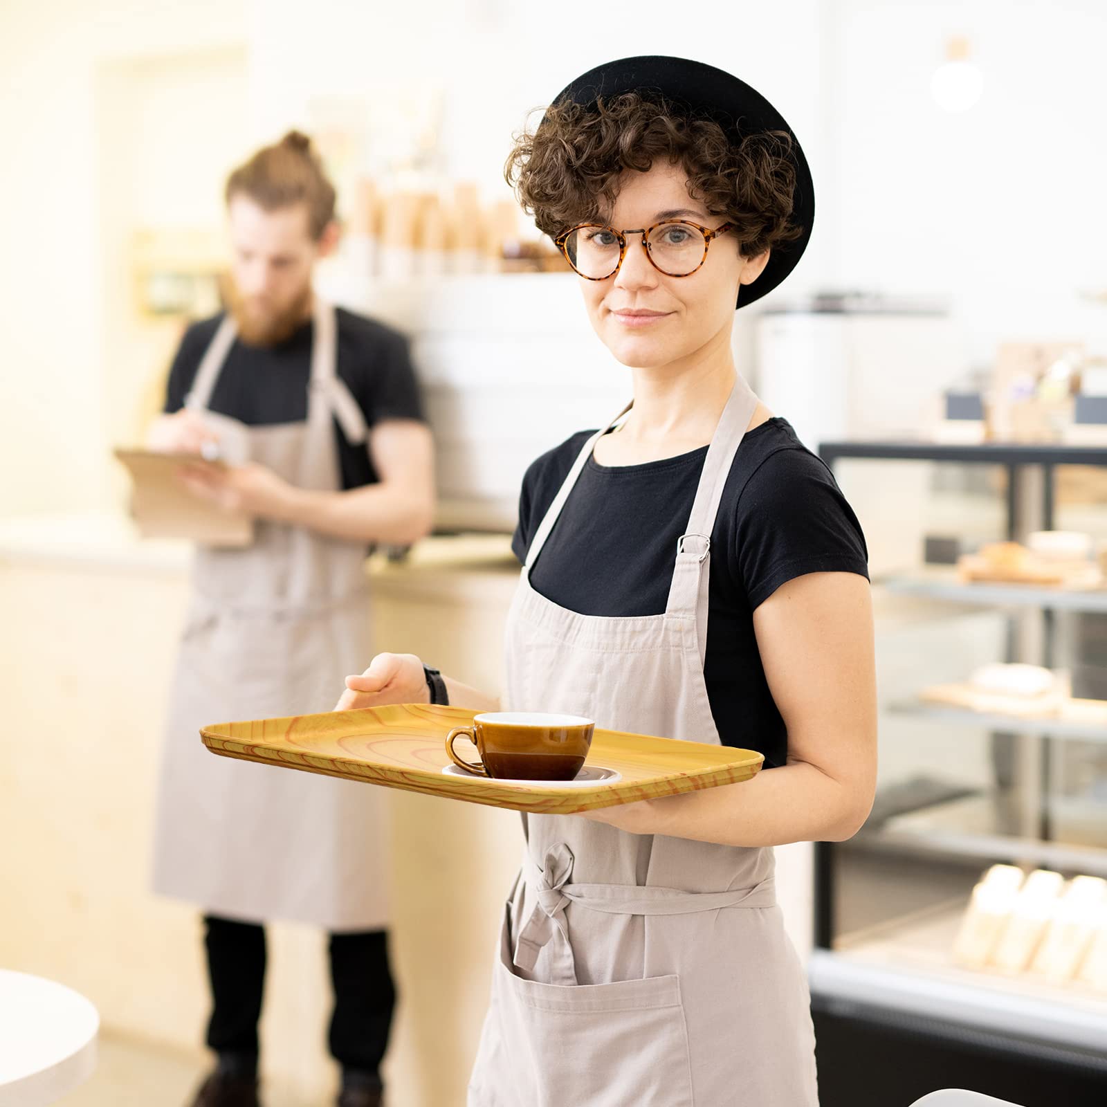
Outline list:
[[[734,304],[807,241],[807,164],[736,77],[637,58],[566,89],[507,175],[580,275],[634,400],[618,433],[577,435],[526,475],[505,706],[752,747],[765,770],[525,818],[469,1104],[807,1107],[809,1002],[770,847],[847,838],[869,811],[867,551],[829,469],[731,349]],[[410,655],[346,689],[342,707],[443,689],[498,706]]]

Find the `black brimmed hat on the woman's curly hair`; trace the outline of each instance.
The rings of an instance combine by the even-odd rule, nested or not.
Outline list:
[[[795,241],[773,249],[757,280],[742,286],[737,307],[744,308],[772,292],[796,268],[807,248],[815,221],[811,170],[795,132],[784,116],[745,81],[714,65],[662,55],[621,58],[597,65],[571,81],[557,94],[554,103],[569,101],[588,107],[594,105],[600,96],[608,100],[624,92],[662,96],[692,117],[714,120],[735,139],[763,131],[786,131],[792,135],[792,159],[796,167],[792,219],[801,234]]]

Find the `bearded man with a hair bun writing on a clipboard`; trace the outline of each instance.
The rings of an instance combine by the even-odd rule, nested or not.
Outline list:
[[[312,292],[338,241],[334,188],[298,132],[229,177],[228,310],[189,327],[156,449],[254,520],[247,547],[199,546],[168,712],[155,890],[204,917],[216,1064],[194,1107],[257,1107],[271,920],[330,935],[341,1107],[380,1107],[395,1002],[383,793],[214,757],[198,728],[328,711],[334,674],[371,653],[365,556],[421,538],[432,443],[407,342]],[[201,458],[219,456],[228,464]]]

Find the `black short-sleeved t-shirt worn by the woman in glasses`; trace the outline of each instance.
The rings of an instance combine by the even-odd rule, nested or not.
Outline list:
[[[527,470],[513,542],[520,561],[593,433],[573,435]],[[619,467],[589,458],[531,569],[534,588],[581,614],[663,613],[706,455],[703,446]],[[787,420],[770,418],[743,438],[712,530],[710,565],[704,679],[715,726],[724,745],[759,751],[766,768],[783,765],[787,733],[765,680],[753,612],[804,573],[869,576],[857,516]]]

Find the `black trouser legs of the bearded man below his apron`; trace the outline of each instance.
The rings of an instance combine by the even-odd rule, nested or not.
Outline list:
[[[240,1059],[258,1055],[266,979],[266,932],[252,922],[205,915],[211,981],[207,1044]],[[392,1027],[396,993],[383,930],[330,935],[334,1011],[328,1043],[343,1069],[377,1073]]]

